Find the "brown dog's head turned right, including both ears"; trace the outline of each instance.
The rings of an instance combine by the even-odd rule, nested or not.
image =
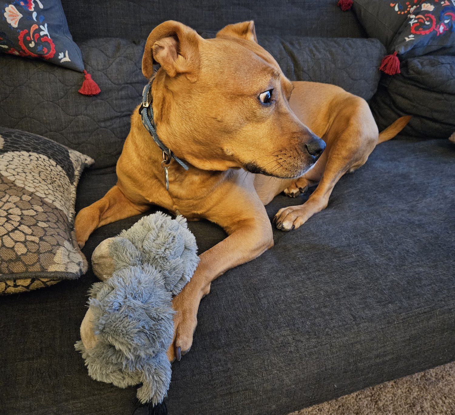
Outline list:
[[[253,21],[214,39],[164,22],[147,39],[147,78],[154,63],[161,65],[152,84],[157,133],[193,166],[296,177],[323,152],[324,142],[289,108],[292,83],[258,45]]]

